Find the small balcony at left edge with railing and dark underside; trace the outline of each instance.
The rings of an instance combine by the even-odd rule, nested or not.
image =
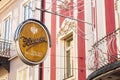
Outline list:
[[[9,71],[10,43],[0,40],[0,67]]]

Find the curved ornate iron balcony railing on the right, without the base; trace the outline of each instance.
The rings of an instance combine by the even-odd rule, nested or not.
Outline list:
[[[120,28],[96,42],[87,56],[87,66],[97,70],[120,60]]]

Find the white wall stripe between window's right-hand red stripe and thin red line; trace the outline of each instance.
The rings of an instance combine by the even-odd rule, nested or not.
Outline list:
[[[85,6],[85,21],[92,23],[92,10],[91,10],[91,0],[85,0],[85,4],[87,5]],[[85,24],[85,34],[87,34],[85,36],[86,39],[85,40],[85,50],[86,50],[86,77],[91,73],[91,70],[88,69],[88,58],[90,56],[88,56],[88,51],[91,49],[91,45],[93,44],[93,31],[92,31],[92,27],[91,25]]]

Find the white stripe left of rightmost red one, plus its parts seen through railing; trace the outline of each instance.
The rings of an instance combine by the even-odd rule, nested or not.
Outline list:
[[[96,0],[96,3],[97,3],[97,28],[98,28],[98,41],[99,41],[106,35],[107,26],[106,26],[106,16],[105,16],[105,0]],[[102,51],[107,51],[107,45],[104,44],[99,45],[99,48],[102,49]],[[101,55],[104,56],[106,59],[108,57],[108,55],[99,52],[99,56]]]

